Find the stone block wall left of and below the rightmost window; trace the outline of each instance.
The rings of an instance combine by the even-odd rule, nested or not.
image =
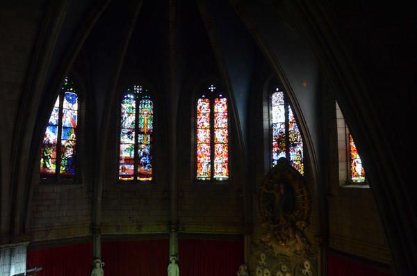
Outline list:
[[[331,149],[334,160],[330,162],[332,192],[328,197],[329,246],[374,261],[391,263],[389,245],[372,190],[369,186],[345,186],[349,173],[346,141],[349,130],[337,105],[336,124],[329,122],[329,126],[332,125],[336,129],[329,133],[334,133],[337,143]]]

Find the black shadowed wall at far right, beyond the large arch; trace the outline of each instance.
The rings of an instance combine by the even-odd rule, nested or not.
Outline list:
[[[328,4],[304,6],[313,17],[324,15],[323,22],[316,23],[304,17],[312,25],[304,31],[313,34],[309,35],[311,45],[362,154],[396,273],[407,275],[417,258],[416,235],[411,230],[417,222],[416,189],[410,181],[413,167],[409,162],[416,149],[413,136],[404,135],[404,129],[416,125],[411,112],[416,106],[411,92],[416,3]],[[325,35],[320,35],[322,31]]]

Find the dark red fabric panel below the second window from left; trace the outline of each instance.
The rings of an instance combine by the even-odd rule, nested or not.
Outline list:
[[[169,250],[168,240],[103,241],[104,275],[166,276]]]

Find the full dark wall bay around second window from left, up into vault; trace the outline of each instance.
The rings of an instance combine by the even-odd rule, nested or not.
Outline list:
[[[166,233],[169,215],[167,193],[166,103],[166,22],[163,3],[144,3],[124,56],[115,100],[108,103],[108,124],[104,192],[101,203],[103,234]],[[105,28],[106,25],[104,25]],[[99,79],[98,79],[99,81]],[[120,103],[127,89],[141,84],[154,102],[153,172],[151,182],[119,181]]]

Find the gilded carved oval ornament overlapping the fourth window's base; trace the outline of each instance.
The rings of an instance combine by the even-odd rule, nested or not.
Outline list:
[[[286,159],[279,159],[265,177],[259,197],[261,242],[276,255],[308,252],[304,229],[309,225],[310,196],[302,175]]]

